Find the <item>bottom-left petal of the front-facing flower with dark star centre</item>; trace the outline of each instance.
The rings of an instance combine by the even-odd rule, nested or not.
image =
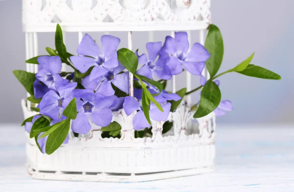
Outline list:
[[[80,111],[76,115],[76,119],[73,120],[72,130],[75,133],[86,134],[91,130],[88,115],[84,111]]]

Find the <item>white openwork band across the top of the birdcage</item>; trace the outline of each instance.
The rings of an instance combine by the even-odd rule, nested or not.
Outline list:
[[[25,32],[200,30],[210,0],[23,0]]]

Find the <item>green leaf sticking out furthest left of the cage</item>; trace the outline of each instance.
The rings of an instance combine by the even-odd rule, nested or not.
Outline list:
[[[33,83],[36,80],[35,74],[31,72],[25,72],[22,70],[14,70],[13,74],[19,80],[19,82],[25,87],[27,93],[31,96],[34,95]]]

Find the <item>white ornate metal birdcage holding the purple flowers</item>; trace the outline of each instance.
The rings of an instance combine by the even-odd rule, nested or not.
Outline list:
[[[168,30],[191,31],[199,34],[204,44],[205,30],[210,24],[210,0],[23,0],[23,29],[26,59],[38,55],[39,32],[55,31],[58,20],[63,31],[128,31],[128,48],[132,46],[133,31]],[[26,64],[27,72],[38,67]],[[208,76],[206,70],[202,72]],[[130,73],[130,95],[133,96],[133,75]],[[191,90],[191,76],[186,73],[187,91]],[[175,93],[175,77],[172,77]],[[22,101],[25,119],[34,115],[30,103]],[[27,170],[33,178],[76,181],[138,182],[172,178],[214,170],[215,115],[196,119],[199,133],[188,135],[191,97],[171,112],[173,135],[163,136],[164,122],[153,121],[152,138],[135,138],[133,115],[123,109],[113,115],[121,124],[120,139],[102,138],[100,128],[92,125],[87,135],[74,137],[53,154],[39,151],[33,139],[26,142]]]

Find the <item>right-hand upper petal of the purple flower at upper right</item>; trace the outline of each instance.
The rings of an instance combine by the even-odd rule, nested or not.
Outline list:
[[[210,57],[209,52],[201,44],[196,43],[193,45],[188,53],[187,59],[185,61],[190,62],[204,62]]]

